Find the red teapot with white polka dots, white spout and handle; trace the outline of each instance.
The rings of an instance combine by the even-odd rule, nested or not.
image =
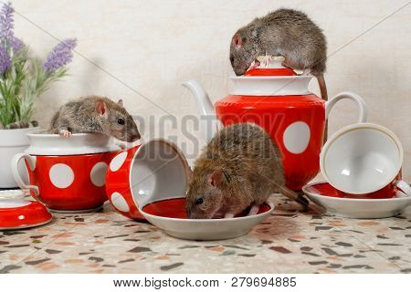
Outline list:
[[[269,57],[246,76],[231,77],[234,89],[216,107],[195,80],[183,86],[195,97],[205,141],[221,126],[257,123],[279,146],[287,186],[299,191],[320,171],[325,124],[332,107],[341,99],[352,99],[359,107],[358,122],[366,120],[367,110],[364,99],[351,92],[325,102],[309,91],[312,76],[297,75],[282,66],[283,61],[283,57]]]

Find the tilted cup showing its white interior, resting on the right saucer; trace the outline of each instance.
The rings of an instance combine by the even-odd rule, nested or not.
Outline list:
[[[383,126],[359,123],[335,132],[321,151],[324,179],[345,197],[391,198],[411,195],[401,180],[403,147]]]

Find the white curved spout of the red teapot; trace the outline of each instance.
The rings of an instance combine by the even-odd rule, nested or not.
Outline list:
[[[197,81],[185,81],[182,85],[190,90],[195,98],[200,130],[208,143],[221,127],[221,123],[216,119],[214,106],[205,89]]]

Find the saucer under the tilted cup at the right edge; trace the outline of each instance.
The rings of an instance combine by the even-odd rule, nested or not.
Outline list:
[[[328,196],[335,192],[329,183],[310,183],[302,188],[314,203],[330,214],[347,218],[376,219],[401,214],[411,205],[411,197],[390,199],[350,199]],[[328,194],[328,195],[326,195]]]

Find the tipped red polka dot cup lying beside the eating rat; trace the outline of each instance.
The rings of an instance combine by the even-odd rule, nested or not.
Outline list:
[[[145,220],[139,208],[152,204],[164,213],[163,205],[184,205],[190,168],[184,154],[171,141],[154,139],[121,151],[111,161],[106,190],[111,204],[124,216]],[[154,208],[155,209],[155,208]],[[181,208],[180,208],[181,209]],[[178,208],[168,208],[173,217]],[[185,210],[185,209],[184,209]]]

